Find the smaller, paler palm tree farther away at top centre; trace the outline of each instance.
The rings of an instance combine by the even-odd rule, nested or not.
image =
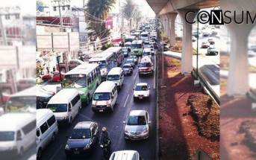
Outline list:
[[[124,13],[125,19],[129,20],[131,27],[131,19],[134,18],[134,13],[137,12],[138,6],[133,0],[125,0],[122,3],[122,13]]]

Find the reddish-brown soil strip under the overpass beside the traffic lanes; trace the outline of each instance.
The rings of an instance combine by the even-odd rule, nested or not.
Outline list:
[[[219,127],[216,127],[216,124],[219,124],[218,116],[212,120],[205,116],[206,123],[214,124],[213,121],[215,121],[216,128],[210,129],[207,125],[204,128],[202,121],[199,123],[190,115],[190,110],[195,109],[201,112],[196,115],[198,118],[204,118],[202,115],[212,116],[213,112],[219,115],[219,109],[214,106],[216,104],[213,101],[210,105],[213,105],[210,107],[213,112],[205,109],[207,101],[210,103],[209,97],[202,93],[201,88],[193,86],[193,77],[181,74],[181,66],[172,63],[177,62],[175,58],[164,57],[164,60],[164,82],[162,80],[162,60],[158,60],[160,159],[193,159],[199,148],[205,151],[211,159],[219,159],[219,141],[214,141],[218,139],[219,134]],[[163,83],[166,87],[162,87]],[[193,95],[193,100],[190,95]],[[189,97],[193,102],[187,103]],[[192,103],[193,105],[191,105]],[[191,108],[191,106],[193,107]],[[206,131],[203,131],[204,129]]]

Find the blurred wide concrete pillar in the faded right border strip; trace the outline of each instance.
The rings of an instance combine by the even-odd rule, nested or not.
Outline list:
[[[227,27],[231,32],[228,95],[246,95],[246,92],[249,92],[248,36],[253,25],[231,23]]]

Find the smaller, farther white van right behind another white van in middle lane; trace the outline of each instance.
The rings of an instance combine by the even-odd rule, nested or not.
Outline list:
[[[107,74],[107,81],[116,83],[116,86],[119,87],[119,89],[122,89],[124,79],[124,71],[120,67],[112,68]]]

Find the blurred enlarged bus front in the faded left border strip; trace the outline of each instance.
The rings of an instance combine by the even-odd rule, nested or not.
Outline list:
[[[37,86],[24,89],[10,95],[5,106],[5,112],[33,112],[37,111]]]

